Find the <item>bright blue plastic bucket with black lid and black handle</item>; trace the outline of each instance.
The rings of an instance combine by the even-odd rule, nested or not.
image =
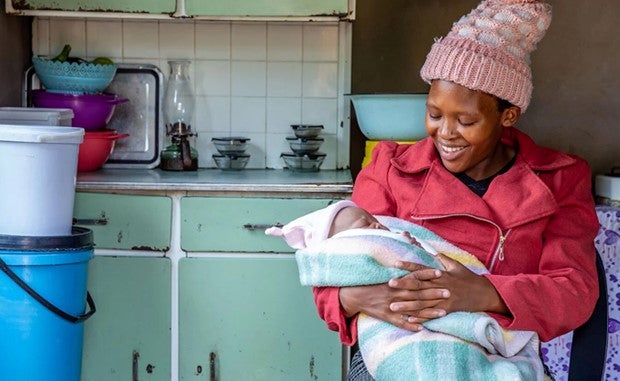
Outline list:
[[[79,381],[92,232],[0,235],[0,380]],[[88,312],[86,303],[88,303]]]

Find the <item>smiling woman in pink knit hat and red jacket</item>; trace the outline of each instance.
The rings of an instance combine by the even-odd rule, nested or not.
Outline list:
[[[515,128],[531,98],[529,53],[550,20],[540,1],[484,0],[455,23],[421,70],[429,137],[379,144],[353,190],[360,207],[425,226],[491,273],[443,256],[446,271],[402,263],[412,273],[388,284],[315,288],[319,315],[344,344],[356,342],[362,312],[415,331],[453,311],[483,311],[543,341],[590,316],[598,222],[589,167]],[[364,373],[359,355],[352,368],[350,379]]]

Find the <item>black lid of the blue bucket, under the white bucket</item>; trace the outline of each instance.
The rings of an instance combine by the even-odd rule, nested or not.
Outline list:
[[[92,248],[93,232],[74,227],[68,236],[23,236],[0,234],[0,250],[46,251]]]

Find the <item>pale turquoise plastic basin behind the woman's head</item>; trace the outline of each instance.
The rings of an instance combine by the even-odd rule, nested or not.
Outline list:
[[[424,139],[428,94],[351,95],[360,130],[369,140]]]

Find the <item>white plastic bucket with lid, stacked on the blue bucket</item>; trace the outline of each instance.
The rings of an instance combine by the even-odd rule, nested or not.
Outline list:
[[[78,127],[0,124],[0,234],[71,234]]]

